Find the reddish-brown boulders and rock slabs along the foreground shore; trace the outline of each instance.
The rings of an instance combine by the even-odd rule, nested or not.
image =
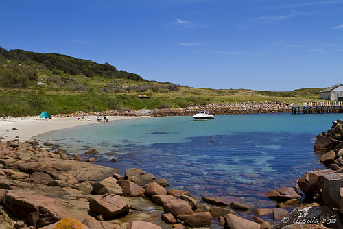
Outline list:
[[[0,225],[6,229],[69,224],[118,229],[343,228],[342,124],[333,122],[314,146],[324,153],[321,161],[329,169],[314,169],[298,180],[298,186],[265,193],[275,200],[275,208],[252,208],[221,196],[199,200],[187,190],[168,189],[165,178],[138,168],[119,175],[115,169],[91,163],[94,158],[51,152],[51,143],[3,141]],[[265,215],[275,221],[263,220]]]

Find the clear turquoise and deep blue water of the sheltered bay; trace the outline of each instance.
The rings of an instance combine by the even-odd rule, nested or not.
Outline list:
[[[96,163],[121,174],[139,167],[166,178],[170,188],[198,197],[235,195],[264,207],[274,206],[264,197],[266,191],[294,186],[306,171],[324,168],[313,152],[314,142],[337,119],[343,115],[216,115],[209,121],[160,117],[85,125],[38,138],[84,157],[95,147],[100,152]]]

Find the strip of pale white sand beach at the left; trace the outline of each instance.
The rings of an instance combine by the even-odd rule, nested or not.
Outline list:
[[[146,117],[146,116],[145,116]],[[88,121],[88,118],[90,121]],[[43,134],[52,130],[61,130],[64,128],[73,128],[79,125],[102,124],[104,125],[104,117],[100,117],[102,122],[97,122],[97,116],[84,117],[77,120],[77,117],[64,117],[53,119],[41,119],[39,117],[27,118],[11,118],[5,120],[0,119],[0,137],[3,141],[27,141],[38,134]],[[117,121],[123,119],[140,119],[142,117],[132,116],[108,116],[109,121]]]

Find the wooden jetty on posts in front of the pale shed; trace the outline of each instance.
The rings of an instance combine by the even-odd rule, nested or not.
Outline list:
[[[343,113],[343,102],[310,102],[292,104],[292,114]]]

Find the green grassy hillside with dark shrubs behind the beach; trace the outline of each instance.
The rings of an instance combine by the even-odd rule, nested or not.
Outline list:
[[[243,101],[319,101],[322,88],[289,92],[191,88],[144,80],[117,70],[58,53],[7,51],[0,47],[0,117],[78,110],[181,108],[196,104]],[[137,94],[150,95],[139,99]]]

